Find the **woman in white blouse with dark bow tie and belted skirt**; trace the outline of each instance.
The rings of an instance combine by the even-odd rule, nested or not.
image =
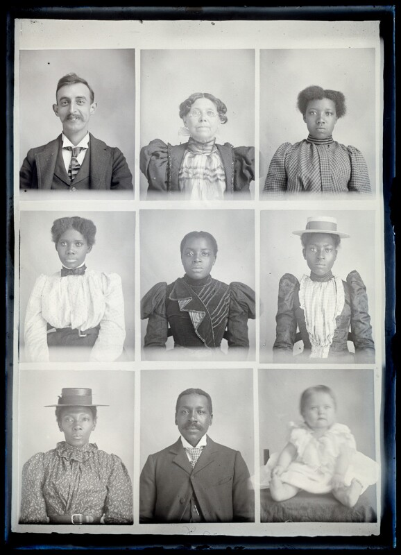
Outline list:
[[[114,361],[126,337],[121,278],[89,270],[96,226],[79,216],[54,221],[51,236],[62,263],[60,271],[37,278],[26,309],[25,357],[47,362],[49,351],[64,348],[71,359]]]

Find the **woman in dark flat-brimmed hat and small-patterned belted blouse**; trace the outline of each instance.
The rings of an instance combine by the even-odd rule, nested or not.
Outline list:
[[[133,487],[121,459],[89,443],[96,407],[88,388],[62,388],[56,418],[65,441],[22,470],[20,524],[132,524]]]

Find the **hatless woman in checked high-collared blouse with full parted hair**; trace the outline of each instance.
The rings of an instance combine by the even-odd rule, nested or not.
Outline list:
[[[307,87],[298,94],[297,105],[309,135],[278,148],[268,168],[264,194],[370,194],[363,155],[355,146],[345,146],[332,137],[337,120],[345,114],[343,93]]]

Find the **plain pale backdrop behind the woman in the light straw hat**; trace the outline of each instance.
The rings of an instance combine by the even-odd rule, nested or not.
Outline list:
[[[284,273],[300,280],[310,275],[302,255],[300,237],[294,230],[304,230],[308,216],[332,216],[337,229],[350,235],[341,239],[332,273],[345,281],[357,270],[368,294],[370,324],[375,340],[375,212],[343,210],[266,210],[260,213],[260,360],[271,362],[275,341],[278,284]]]

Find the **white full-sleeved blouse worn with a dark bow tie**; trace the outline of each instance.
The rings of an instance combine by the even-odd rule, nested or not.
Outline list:
[[[92,270],[84,275],[61,272],[37,278],[25,317],[25,356],[48,362],[47,324],[81,332],[100,325],[90,361],[110,362],[123,351],[126,338],[121,278]]]

